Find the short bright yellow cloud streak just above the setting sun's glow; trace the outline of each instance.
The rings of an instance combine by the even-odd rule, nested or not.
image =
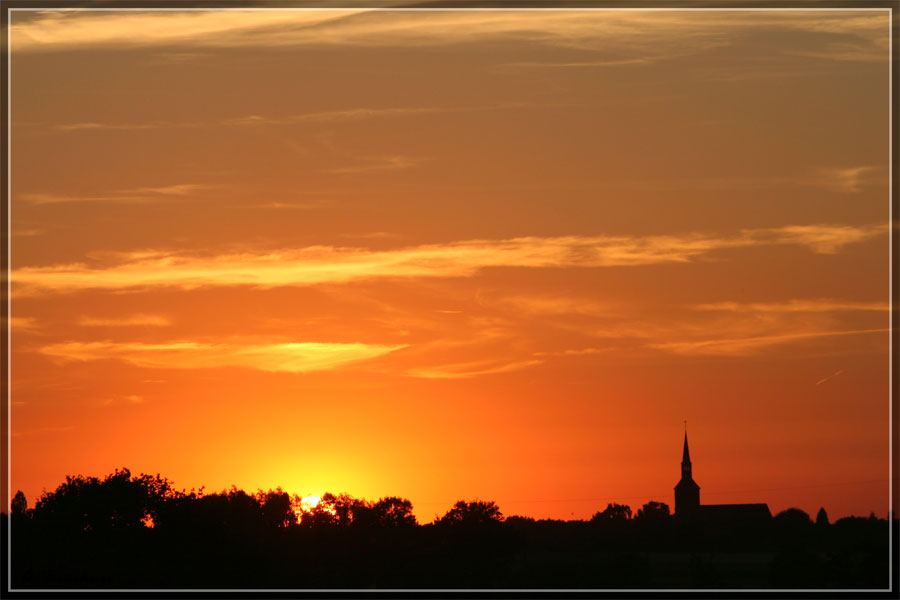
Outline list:
[[[138,367],[157,369],[243,367],[270,372],[309,373],[375,358],[404,347],[316,342],[206,344],[180,341],[142,344],[104,341],[50,344],[38,351],[63,361],[119,360]]]

